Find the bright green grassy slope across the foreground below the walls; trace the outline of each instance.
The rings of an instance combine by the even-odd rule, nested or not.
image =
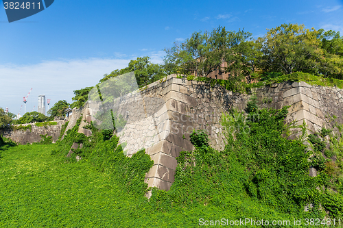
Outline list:
[[[2,152],[0,227],[198,227],[199,218],[285,218],[232,195],[220,202],[223,207],[195,203],[159,211],[161,205],[133,197],[88,162],[61,164],[51,155],[54,147],[34,144]]]

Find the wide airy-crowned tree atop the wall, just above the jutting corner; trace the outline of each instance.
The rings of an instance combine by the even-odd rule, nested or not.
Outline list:
[[[244,31],[226,31],[225,27],[217,27],[211,33],[205,31],[194,32],[181,44],[175,42],[174,47],[165,49],[167,55],[165,64],[174,73],[192,74],[206,77],[209,73],[222,68],[224,62],[235,62],[237,49],[242,42],[250,38],[251,34]],[[229,65],[229,63],[228,63]],[[174,67],[172,67],[174,66]],[[173,68],[173,70],[170,70]]]

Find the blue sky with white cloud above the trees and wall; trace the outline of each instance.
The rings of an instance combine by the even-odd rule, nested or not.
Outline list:
[[[139,56],[161,63],[163,49],[194,31],[218,25],[253,36],[283,23],[333,29],[343,35],[343,1],[89,1],[55,0],[43,12],[8,23],[0,8],[0,107],[18,114],[33,88],[52,105],[71,103],[73,90]],[[34,107],[36,106],[36,107]],[[21,111],[23,114],[23,110]]]

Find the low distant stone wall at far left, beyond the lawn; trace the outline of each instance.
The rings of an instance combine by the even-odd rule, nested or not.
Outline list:
[[[31,125],[31,131],[29,129],[23,130],[12,130],[12,129],[1,129],[0,134],[5,138],[10,138],[14,142],[18,142],[19,144],[27,144],[32,142],[40,142],[41,137],[40,135],[47,135],[52,136],[53,142],[58,140],[60,137],[60,132],[62,129],[62,125],[64,125],[64,121],[54,121],[57,122],[57,125],[51,125],[46,127],[37,127],[34,123],[31,124],[23,124],[23,126]],[[14,125],[20,126],[20,125]]]

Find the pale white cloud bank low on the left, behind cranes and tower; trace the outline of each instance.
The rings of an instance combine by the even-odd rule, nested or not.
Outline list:
[[[125,68],[128,62],[130,60],[87,59],[0,65],[0,107],[9,107],[10,112],[18,114],[23,97],[31,88],[27,112],[31,112],[34,106],[37,110],[39,94],[51,99],[51,106],[60,100],[70,103],[74,97],[73,90],[95,86],[105,73]]]

